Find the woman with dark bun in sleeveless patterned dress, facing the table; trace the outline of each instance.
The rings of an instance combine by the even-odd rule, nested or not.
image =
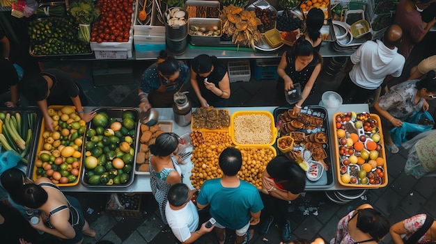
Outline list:
[[[174,156],[180,137],[175,133],[162,133],[156,138],[156,143],[150,145],[150,185],[151,191],[159,204],[162,220],[166,224],[165,206],[169,188],[176,183],[182,183],[182,170],[178,158]]]

